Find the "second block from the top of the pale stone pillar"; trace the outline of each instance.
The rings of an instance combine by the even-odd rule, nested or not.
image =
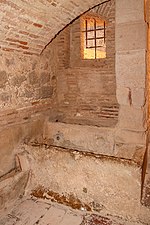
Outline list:
[[[126,23],[116,25],[116,51],[129,51],[147,48],[146,23]]]

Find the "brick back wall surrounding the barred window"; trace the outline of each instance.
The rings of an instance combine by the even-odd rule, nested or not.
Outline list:
[[[115,78],[115,2],[102,4],[92,12],[108,22],[107,58],[81,59],[80,19],[56,37],[58,121],[114,127],[119,108]]]

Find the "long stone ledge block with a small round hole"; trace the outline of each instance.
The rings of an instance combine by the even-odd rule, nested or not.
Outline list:
[[[113,153],[114,129],[48,122],[44,138],[54,146],[90,151],[98,154]]]

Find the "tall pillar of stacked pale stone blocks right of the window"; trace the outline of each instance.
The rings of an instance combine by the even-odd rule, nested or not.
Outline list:
[[[144,1],[117,0],[116,93],[120,111],[116,143],[122,143],[122,147],[146,143],[146,52]]]

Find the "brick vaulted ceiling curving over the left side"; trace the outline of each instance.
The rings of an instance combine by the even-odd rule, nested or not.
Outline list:
[[[0,48],[39,55],[73,19],[105,0],[0,0]]]

